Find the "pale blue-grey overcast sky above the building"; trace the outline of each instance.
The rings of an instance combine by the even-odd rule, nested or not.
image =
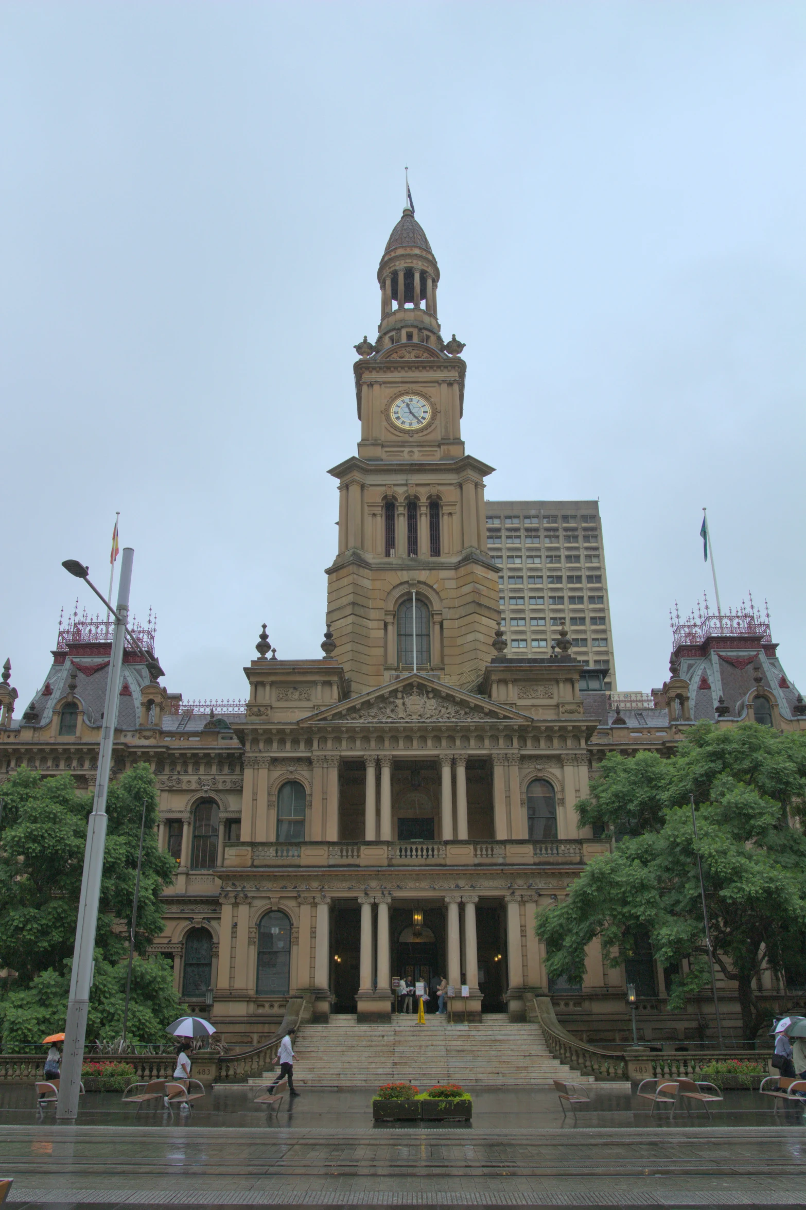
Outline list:
[[[165,682],[317,657],[326,473],[403,204],[490,499],[600,501],[620,688],[752,590],[806,691],[806,6],[0,7],[2,610],[18,714],[115,511]],[[490,652],[491,653],[491,652]]]

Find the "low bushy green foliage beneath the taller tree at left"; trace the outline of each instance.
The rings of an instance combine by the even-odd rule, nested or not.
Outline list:
[[[0,1037],[6,1053],[39,1048],[44,1037],[64,1027],[70,991],[71,960],[64,972],[44,970],[28,987],[12,987],[0,999]],[[96,972],[90,993],[87,1047],[96,1039],[113,1042],[123,1030],[126,962],[109,963],[96,951]],[[173,990],[173,970],[163,958],[134,958],[128,1006],[127,1037],[132,1042],[165,1042],[166,1025],[179,1016],[182,1006]]]

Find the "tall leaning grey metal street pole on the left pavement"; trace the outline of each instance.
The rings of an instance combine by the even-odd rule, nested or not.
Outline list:
[[[92,813],[87,824],[87,843],[84,852],[81,899],[79,901],[79,918],[73,950],[70,998],[64,1026],[64,1055],[62,1059],[59,1094],[56,1105],[56,1116],[62,1120],[74,1119],[79,1113],[84,1042],[87,1032],[87,1008],[90,1004],[90,989],[92,987],[100,877],[103,874],[104,845],[106,841],[106,790],[109,788],[109,768],[111,765],[113,743],[115,741],[120,675],[123,664],[123,640],[126,622],[128,620],[128,592],[132,582],[132,560],[134,559],[134,551],[129,546],[123,547],[122,553],[123,558],[121,559],[120,580],[117,582],[117,611],[115,615],[115,629],[113,632],[109,680],[106,681],[106,699],[104,702],[104,719],[98,751],[98,777],[96,779]],[[68,570],[70,569],[68,567]],[[75,575],[75,572],[73,574]],[[86,578],[86,575],[81,578]]]

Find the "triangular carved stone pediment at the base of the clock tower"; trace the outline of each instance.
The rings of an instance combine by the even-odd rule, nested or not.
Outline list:
[[[300,722],[532,722],[530,715],[411,673]]]

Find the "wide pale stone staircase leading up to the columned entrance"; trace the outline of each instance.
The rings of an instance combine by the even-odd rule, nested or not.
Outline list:
[[[591,1083],[548,1051],[537,1025],[485,1014],[480,1024],[449,1025],[447,1016],[392,1016],[388,1025],[358,1024],[334,1014],[328,1025],[304,1025],[294,1039],[294,1083],[300,1088],[353,1088],[407,1081],[432,1084],[540,1087],[553,1079]],[[269,1074],[269,1073],[266,1073]],[[274,1074],[274,1073],[272,1073]]]

